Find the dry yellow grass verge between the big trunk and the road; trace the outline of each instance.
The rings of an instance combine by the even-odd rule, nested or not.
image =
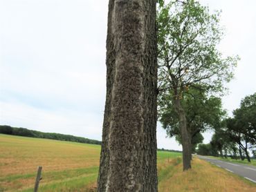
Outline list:
[[[170,171],[161,178],[158,191],[256,191],[256,185],[203,160],[194,158],[192,170],[182,171],[182,163],[171,162]]]

